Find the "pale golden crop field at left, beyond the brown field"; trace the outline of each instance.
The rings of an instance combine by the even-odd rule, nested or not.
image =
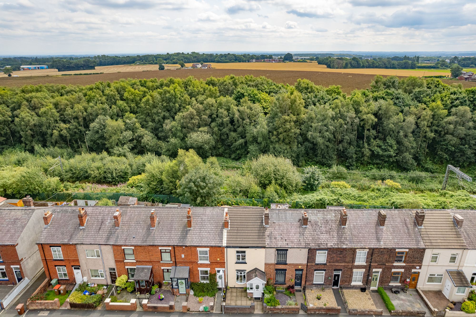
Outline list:
[[[164,65],[165,69],[177,69],[178,65]],[[112,65],[112,66],[96,66],[96,69],[58,71],[58,69],[35,69],[35,70],[17,70],[12,75],[24,76],[60,76],[61,74],[89,74],[89,73],[117,73],[144,70],[158,70],[159,65]],[[0,77],[7,77],[0,72]]]

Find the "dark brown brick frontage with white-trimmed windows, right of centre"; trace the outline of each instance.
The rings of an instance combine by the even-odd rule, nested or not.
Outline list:
[[[327,250],[326,263],[316,264],[316,251]],[[356,264],[359,250],[367,250],[365,264]],[[407,251],[404,263],[395,263],[397,250]],[[306,285],[332,286],[334,270],[341,270],[339,286],[346,288],[370,288],[373,271],[379,271],[377,287],[404,287],[404,281],[410,278],[412,272],[421,272],[424,248],[312,248],[308,252]],[[372,263],[370,264],[370,261]],[[418,268],[417,268],[418,267]],[[324,270],[324,283],[314,284],[314,271]],[[352,283],[354,270],[363,271],[362,283]],[[392,283],[390,278],[393,271],[402,272],[400,283]],[[421,275],[421,274],[420,274]],[[420,278],[420,277],[419,277]]]

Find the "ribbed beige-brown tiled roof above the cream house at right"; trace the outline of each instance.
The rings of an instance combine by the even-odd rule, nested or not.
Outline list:
[[[451,211],[456,213],[454,210]],[[423,228],[419,230],[426,248],[466,248],[465,240],[458,228],[456,228],[450,210],[425,209],[425,213]],[[462,217],[464,218],[464,216]],[[464,225],[465,223],[463,223]]]

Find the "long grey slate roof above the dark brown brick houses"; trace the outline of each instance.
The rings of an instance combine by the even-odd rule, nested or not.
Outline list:
[[[302,213],[309,217],[302,227]],[[380,209],[347,209],[341,228],[340,209],[271,209],[266,246],[269,248],[425,248],[410,209],[384,209],[384,228],[377,222]]]

